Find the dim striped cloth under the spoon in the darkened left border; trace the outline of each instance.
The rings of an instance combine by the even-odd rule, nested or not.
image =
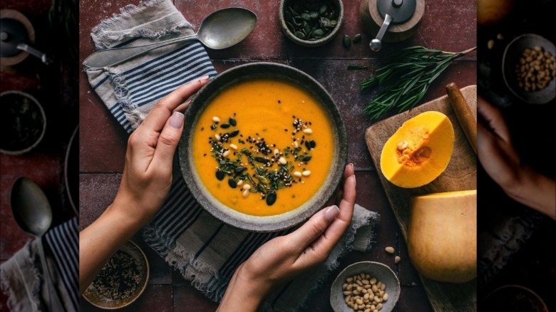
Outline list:
[[[78,311],[78,217],[45,234],[46,262],[61,303],[66,311]],[[46,311],[47,286],[36,241],[27,243],[0,266],[0,285],[13,312]]]

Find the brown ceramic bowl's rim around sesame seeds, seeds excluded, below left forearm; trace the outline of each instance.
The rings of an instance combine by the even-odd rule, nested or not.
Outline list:
[[[149,263],[147,261],[147,256],[143,253],[143,250],[139,248],[133,241],[127,241],[120,249],[120,251],[125,252],[133,261],[135,261],[135,265],[138,268],[140,282],[138,288],[129,296],[128,298],[122,300],[113,300],[111,298],[106,298],[103,296],[98,289],[91,284],[88,288],[83,292],[83,298],[86,299],[89,303],[97,308],[102,308],[105,310],[115,310],[118,308],[123,308],[125,306],[129,306],[131,303],[135,302],[145,288],[147,287],[147,282],[149,280]]]

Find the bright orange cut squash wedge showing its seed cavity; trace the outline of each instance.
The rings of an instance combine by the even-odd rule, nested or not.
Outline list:
[[[400,142],[407,142],[404,150],[398,148]],[[386,141],[381,152],[381,171],[398,187],[421,187],[446,170],[453,143],[453,125],[446,115],[436,111],[421,113],[406,120]],[[416,157],[420,154],[424,156]]]

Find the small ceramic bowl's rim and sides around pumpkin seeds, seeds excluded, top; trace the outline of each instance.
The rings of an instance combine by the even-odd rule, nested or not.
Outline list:
[[[304,21],[304,19],[302,19],[302,16],[293,16],[292,15],[292,11],[289,11],[289,6],[294,3],[297,2],[297,0],[281,0],[280,1],[280,6],[279,6],[279,15],[278,15],[278,19],[280,22],[280,26],[282,26],[282,31],[284,31],[284,33],[286,34],[286,36],[293,41],[294,43],[299,44],[300,46],[306,46],[306,47],[316,47],[316,46],[322,46],[324,43],[327,43],[329,41],[332,40],[332,38],[334,38],[334,36],[336,36],[336,34],[338,34],[340,28],[341,28],[341,24],[344,22],[344,3],[341,0],[331,0],[330,2],[334,4],[335,6],[335,11],[334,11],[334,15],[331,16],[331,19],[327,19],[323,20],[323,22],[321,22],[320,19],[320,15],[318,17],[315,17],[316,14],[320,14],[319,9],[320,7],[323,5],[321,4],[321,2],[315,3],[315,7],[312,8],[314,9],[314,11],[308,11],[308,12],[304,12],[304,14],[314,14],[314,16],[312,16],[311,18],[308,18],[309,21]],[[319,7],[316,7],[319,6]],[[324,13],[326,14],[326,13]],[[324,17],[326,19],[326,17]],[[334,26],[334,28],[332,28],[332,30],[329,33],[326,33],[326,36],[322,36],[321,38],[312,38],[310,40],[308,39],[304,39],[304,38],[299,38],[295,35],[295,28],[294,28],[294,23],[297,22],[297,24],[303,24],[303,23],[313,23],[314,24],[318,24],[319,26],[324,25],[326,23],[328,23],[328,21],[336,21],[336,26]],[[318,23],[317,23],[318,21]],[[301,25],[300,25],[301,26]],[[301,31],[303,36],[307,36],[309,35],[309,33],[314,33],[314,31],[316,31],[318,28],[315,28],[314,30],[312,29],[312,27],[307,28],[308,33],[304,33],[304,30]],[[322,29],[326,29],[326,28],[321,28]]]

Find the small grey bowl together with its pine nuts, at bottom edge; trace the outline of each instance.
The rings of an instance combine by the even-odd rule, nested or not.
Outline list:
[[[338,274],[330,290],[330,305],[336,312],[389,312],[399,296],[400,281],[388,266],[361,261]]]

